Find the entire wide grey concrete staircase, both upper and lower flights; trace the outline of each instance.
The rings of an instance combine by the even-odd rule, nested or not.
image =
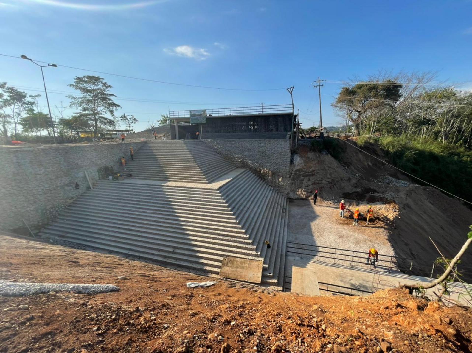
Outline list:
[[[172,148],[167,150],[169,143]],[[40,235],[211,274],[219,273],[225,256],[262,258],[262,282],[282,286],[287,197],[249,170],[219,188],[212,185],[211,178],[228,175],[236,167],[228,166],[226,160],[213,166],[213,160],[220,159],[201,141],[152,141],[147,147],[136,152],[130,163],[133,176],[144,170],[135,167],[139,161],[154,167],[137,176],[144,180],[99,181]],[[189,172],[185,179],[184,174],[166,174],[169,179],[164,180],[188,177],[191,183],[170,186],[148,181],[163,180],[161,166],[173,168],[179,158],[194,163],[193,174]],[[195,186],[195,179],[202,180],[197,182],[200,187]]]

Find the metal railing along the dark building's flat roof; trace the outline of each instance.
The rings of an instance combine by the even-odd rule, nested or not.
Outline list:
[[[207,117],[224,117],[230,115],[292,113],[292,104],[259,105],[254,107],[233,107],[206,109]],[[189,118],[189,110],[170,110],[169,118]]]

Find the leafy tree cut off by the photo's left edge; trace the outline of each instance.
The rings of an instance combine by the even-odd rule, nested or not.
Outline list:
[[[0,109],[2,134],[4,143],[8,140],[8,125],[13,124],[15,138],[17,138],[17,126],[26,109],[33,107],[34,101],[28,99],[26,92],[18,91],[15,87],[7,86],[6,82],[0,83]],[[30,96],[33,98],[34,96]]]

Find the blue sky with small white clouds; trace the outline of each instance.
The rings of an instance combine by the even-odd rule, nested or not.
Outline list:
[[[273,91],[226,91],[100,75],[134,114],[136,130],[177,109],[290,103],[295,86],[303,126],[319,122],[311,84],[379,69],[438,71],[472,89],[472,1],[0,0],[0,53],[182,84]],[[67,105],[74,76],[44,70],[51,105]],[[0,56],[0,82],[42,87],[38,67]],[[340,84],[322,88],[323,124]],[[169,103],[168,103],[169,102]],[[183,102],[183,103],[176,103]],[[188,103],[188,104],[187,104]],[[40,104],[45,107],[43,95]],[[47,108],[43,108],[47,111]],[[66,110],[66,114],[72,113]]]

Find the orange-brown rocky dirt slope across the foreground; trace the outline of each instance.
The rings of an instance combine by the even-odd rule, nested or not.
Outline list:
[[[0,296],[0,352],[470,352],[472,311],[404,290],[304,297],[0,236],[0,278],[119,292]],[[118,279],[125,276],[127,279]],[[23,305],[20,307],[20,305]],[[25,306],[26,305],[26,306]]]

